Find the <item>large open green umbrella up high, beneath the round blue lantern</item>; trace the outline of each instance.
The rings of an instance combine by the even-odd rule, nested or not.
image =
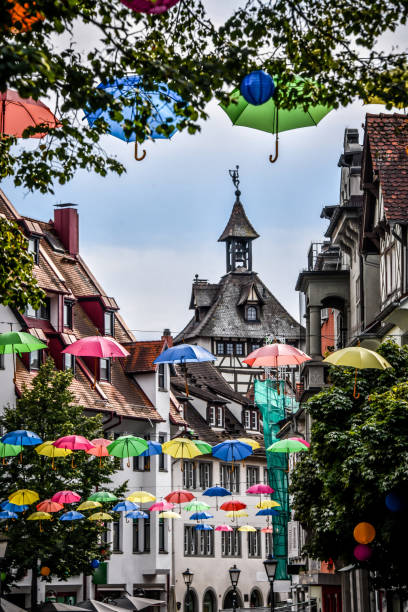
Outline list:
[[[276,83],[277,79],[274,78],[274,81]],[[303,79],[295,78],[292,87],[300,91],[303,89],[304,83],[305,81]],[[263,132],[276,134],[275,156],[269,156],[269,161],[271,163],[274,163],[278,159],[279,132],[317,125],[327,113],[333,110],[333,107],[323,104],[309,106],[307,111],[303,109],[302,104],[290,110],[278,108],[276,93],[275,96],[268,100],[268,102],[265,102],[265,104],[254,106],[253,104],[249,104],[245,98],[241,96],[239,89],[234,89],[230,95],[230,99],[231,102],[228,106],[224,104],[220,104],[220,106],[223,111],[227,113],[234,125],[241,125],[253,128],[254,130],[262,130]]]

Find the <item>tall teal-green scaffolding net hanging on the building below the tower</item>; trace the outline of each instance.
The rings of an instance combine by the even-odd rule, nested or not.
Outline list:
[[[277,442],[280,429],[278,422],[298,409],[298,404],[284,394],[284,382],[279,382],[278,394],[276,382],[272,380],[255,380],[255,403],[262,413],[265,448]],[[266,453],[268,479],[275,490],[272,499],[280,504],[279,516],[272,517],[273,554],[278,560],[275,580],[287,580],[288,562],[288,522],[290,520],[288,493],[288,455],[286,453]]]

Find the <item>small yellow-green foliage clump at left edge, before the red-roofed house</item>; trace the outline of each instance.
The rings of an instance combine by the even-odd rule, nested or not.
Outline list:
[[[28,240],[14,222],[4,217],[0,217],[0,243],[0,303],[20,312],[28,304],[38,308],[45,294],[33,275]]]

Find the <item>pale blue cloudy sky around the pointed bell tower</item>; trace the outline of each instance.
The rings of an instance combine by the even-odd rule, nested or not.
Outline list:
[[[221,18],[220,3],[208,2]],[[233,4],[223,0],[223,10]],[[105,137],[103,146],[126,165],[122,177],[80,172],[55,196],[1,185],[21,213],[44,220],[55,203],[78,204],[81,253],[140,339],[186,324],[196,273],[211,282],[225,273],[225,246],[217,239],[235,199],[228,169],[237,164],[241,199],[260,234],[253,267],[297,318],[297,275],[310,242],[324,233],[322,207],[338,202],[344,129],[359,128],[362,137],[365,113],[384,108],[356,102],[317,127],[283,133],[275,164],[268,161],[271,135],[232,126],[215,103],[208,112],[201,134],[147,143],[143,162],[133,159],[132,144]]]

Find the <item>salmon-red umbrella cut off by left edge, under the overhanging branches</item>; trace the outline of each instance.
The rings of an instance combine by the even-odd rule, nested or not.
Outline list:
[[[22,138],[26,128],[38,125],[58,127],[60,124],[50,109],[39,100],[21,98],[12,89],[0,92],[0,134]],[[43,136],[46,136],[46,132],[32,134],[30,138]]]

